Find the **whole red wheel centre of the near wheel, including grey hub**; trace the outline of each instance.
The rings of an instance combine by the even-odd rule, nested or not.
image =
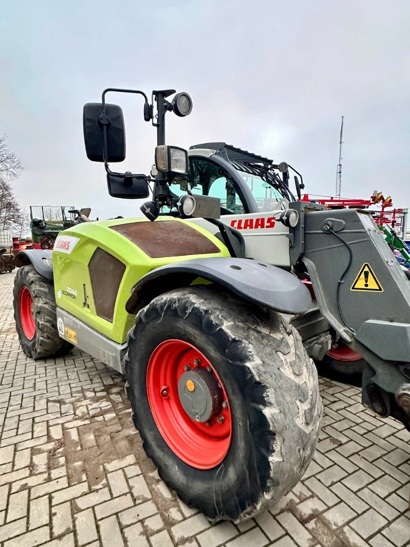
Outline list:
[[[148,363],[147,396],[162,438],[183,462],[212,469],[223,461],[232,438],[229,398],[198,348],[183,340],[161,342]]]

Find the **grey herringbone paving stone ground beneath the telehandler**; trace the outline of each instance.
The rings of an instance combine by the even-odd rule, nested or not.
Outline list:
[[[410,434],[356,387],[320,379],[314,461],[279,505],[210,525],[159,479],[124,379],[88,354],[33,361],[0,275],[0,546],[402,547],[410,544]]]

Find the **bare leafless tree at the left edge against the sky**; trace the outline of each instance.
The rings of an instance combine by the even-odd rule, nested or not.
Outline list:
[[[14,231],[16,226],[24,225],[24,211],[10,184],[21,170],[21,161],[7,146],[4,133],[0,133],[0,230]]]

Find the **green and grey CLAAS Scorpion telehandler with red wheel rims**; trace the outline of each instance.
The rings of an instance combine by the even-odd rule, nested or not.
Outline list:
[[[109,168],[125,159],[112,91],[144,98],[150,176]],[[297,201],[285,162],[168,146],[166,113],[192,109],[174,93],[106,89],[84,106],[109,194],[144,198],[153,183],[152,199],[144,217],[80,222],[52,251],[19,253],[16,328],[34,359],[78,346],[124,373],[161,478],[209,519],[238,522],[306,470],[322,414],[312,358],[339,343],[366,360],[364,405],[409,428],[410,284],[370,214]]]

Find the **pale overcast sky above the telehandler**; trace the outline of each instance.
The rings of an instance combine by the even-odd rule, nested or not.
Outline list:
[[[410,207],[410,3],[391,0],[14,0],[0,15],[0,131],[25,169],[22,206],[91,207],[91,218],[139,216],[110,197],[87,159],[83,105],[105,88],[186,91],[167,114],[167,143],[222,141],[287,161],[305,191],[335,195],[344,116],[342,196],[373,190]],[[156,131],[139,96],[124,110],[127,158],[149,173]]]

